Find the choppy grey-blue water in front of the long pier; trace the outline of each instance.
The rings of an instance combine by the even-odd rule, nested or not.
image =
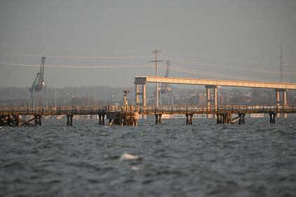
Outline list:
[[[295,118],[0,128],[0,196],[296,196],[295,128]]]

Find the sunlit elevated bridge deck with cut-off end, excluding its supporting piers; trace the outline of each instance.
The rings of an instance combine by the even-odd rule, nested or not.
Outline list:
[[[264,81],[234,81],[217,79],[187,79],[175,77],[135,76],[135,84],[175,83],[188,85],[232,86],[244,88],[274,88],[296,90],[296,83],[274,83]]]

